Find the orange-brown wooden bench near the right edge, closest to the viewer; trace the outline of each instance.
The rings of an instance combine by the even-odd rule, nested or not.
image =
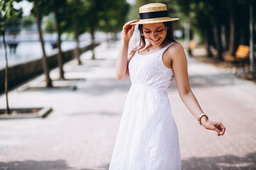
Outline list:
[[[239,68],[243,68],[245,72],[246,64],[249,62],[249,51],[250,47],[245,45],[239,45],[235,56],[226,53],[223,53],[223,59],[225,62],[229,62],[229,68],[234,67],[236,68],[236,74],[238,73]]]

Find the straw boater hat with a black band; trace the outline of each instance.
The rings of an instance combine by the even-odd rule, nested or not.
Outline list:
[[[168,22],[180,20],[180,18],[170,18],[168,16],[166,4],[152,3],[139,8],[139,22],[135,24],[151,24],[156,22]]]

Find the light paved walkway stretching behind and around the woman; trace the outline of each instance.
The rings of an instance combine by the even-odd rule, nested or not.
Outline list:
[[[0,120],[0,170],[108,170],[130,79],[115,78],[119,43],[102,44],[65,64],[78,89],[13,90],[10,107],[52,106],[45,119]],[[182,103],[175,81],[168,90],[177,124],[182,170],[256,170],[256,85],[214,66],[189,59],[189,80],[200,106],[225,135],[205,130]],[[58,69],[51,72],[58,77]],[[44,76],[28,82],[38,84]],[[67,84],[67,82],[58,82]],[[55,85],[58,84],[54,82]],[[5,106],[0,96],[0,108]]]

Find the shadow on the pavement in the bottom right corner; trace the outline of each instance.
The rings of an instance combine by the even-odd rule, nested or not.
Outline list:
[[[239,168],[238,168],[239,167]],[[182,160],[182,170],[255,170],[256,152],[244,157],[225,155],[220,157],[201,157]]]

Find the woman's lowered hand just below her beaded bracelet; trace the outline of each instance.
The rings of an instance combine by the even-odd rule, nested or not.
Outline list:
[[[205,116],[203,116],[205,117]],[[217,132],[217,136],[224,135],[226,128],[222,125],[221,122],[216,122],[216,121],[209,121],[209,120],[204,120],[201,121],[202,126],[208,130],[214,130]]]

